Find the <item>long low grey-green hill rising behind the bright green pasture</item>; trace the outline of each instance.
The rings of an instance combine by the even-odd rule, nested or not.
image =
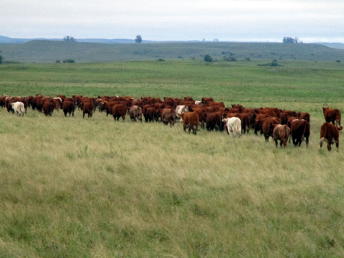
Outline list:
[[[319,44],[171,42],[171,43],[83,43],[35,40],[2,43],[4,61],[53,63],[74,59],[76,62],[156,60],[158,58],[203,58],[209,54],[222,59],[232,56],[261,60],[341,61],[344,50]]]

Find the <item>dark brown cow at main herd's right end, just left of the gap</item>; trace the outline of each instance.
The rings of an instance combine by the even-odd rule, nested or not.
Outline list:
[[[294,119],[289,120],[288,124],[290,125],[292,144],[294,144],[295,147],[297,147],[297,145],[300,146],[305,138],[305,144],[308,147],[308,142],[310,142],[310,123],[306,120]]]

